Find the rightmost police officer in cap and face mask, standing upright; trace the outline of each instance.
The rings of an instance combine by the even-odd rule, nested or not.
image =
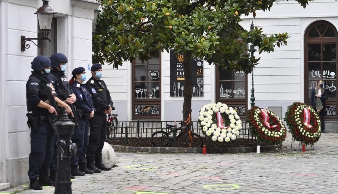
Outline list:
[[[85,87],[92,95],[95,106],[94,117],[90,119],[89,145],[87,151],[87,168],[95,172],[111,170],[102,163],[102,149],[106,139],[107,115],[112,111],[113,102],[109,90],[102,77],[102,66],[93,64],[90,68],[92,77],[87,81]],[[95,163],[94,163],[95,162]],[[101,169],[101,170],[100,170]]]

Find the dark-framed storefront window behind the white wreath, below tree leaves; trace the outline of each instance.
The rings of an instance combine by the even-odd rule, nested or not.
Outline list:
[[[247,114],[247,75],[223,71],[216,66],[216,101],[232,106],[241,119]]]

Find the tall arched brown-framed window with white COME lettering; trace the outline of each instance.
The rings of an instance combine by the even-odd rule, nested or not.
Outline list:
[[[337,30],[327,21],[315,22],[305,32],[305,102],[310,103],[311,90],[322,79],[331,119],[337,119],[337,42]]]

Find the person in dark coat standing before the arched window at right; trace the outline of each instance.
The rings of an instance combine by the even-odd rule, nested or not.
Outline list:
[[[324,82],[318,80],[316,88],[311,91],[311,106],[317,111],[321,120],[321,133],[325,133],[326,100],[327,91],[324,88]]]

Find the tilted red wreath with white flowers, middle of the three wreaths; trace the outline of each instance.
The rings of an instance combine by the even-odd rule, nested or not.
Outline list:
[[[277,144],[285,140],[287,134],[284,123],[270,110],[254,106],[248,112],[248,119],[259,141]]]

